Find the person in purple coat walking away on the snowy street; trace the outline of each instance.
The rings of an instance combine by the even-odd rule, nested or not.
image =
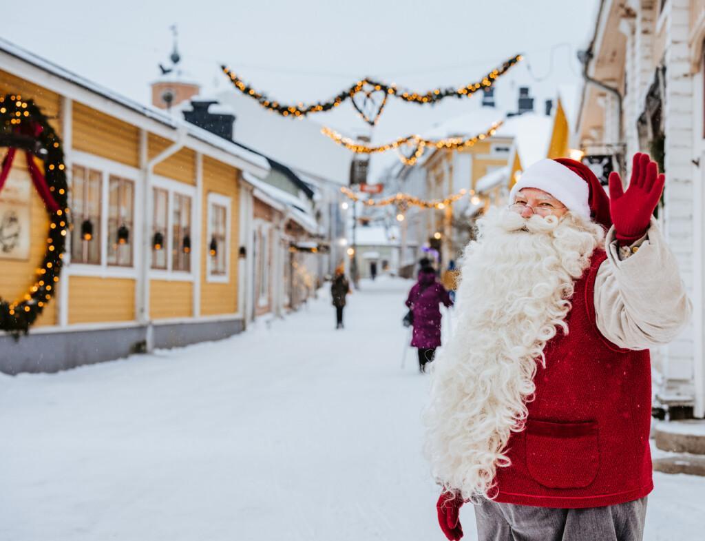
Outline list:
[[[434,360],[436,348],[441,346],[441,303],[452,306],[453,300],[446,288],[436,281],[434,268],[422,261],[418,281],[406,300],[414,315],[411,345],[418,349],[421,372],[426,371],[426,364]]]

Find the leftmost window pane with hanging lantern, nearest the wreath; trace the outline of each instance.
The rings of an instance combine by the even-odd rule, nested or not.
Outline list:
[[[101,188],[103,174],[94,169],[73,166],[71,183],[71,260],[74,263],[101,264]]]

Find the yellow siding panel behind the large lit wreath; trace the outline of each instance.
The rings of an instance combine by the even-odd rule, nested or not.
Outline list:
[[[5,157],[7,149],[0,149],[0,161]],[[24,152],[18,152],[12,164],[10,178],[22,176],[30,184],[30,224],[20,226],[30,227],[30,254],[27,260],[0,260],[0,298],[12,302],[21,300],[32,284],[35,284],[37,268],[44,260],[47,250],[47,233],[49,231],[49,217],[44,208],[42,198],[37,194],[27,171],[27,160]],[[0,199],[2,193],[0,192]],[[56,324],[56,296],[52,296],[49,304],[44,307],[44,312],[39,316],[35,325]]]

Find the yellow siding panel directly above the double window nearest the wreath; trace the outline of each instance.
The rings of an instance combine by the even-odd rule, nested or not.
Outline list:
[[[140,133],[137,126],[78,102],[73,103],[73,148],[121,164],[140,166]]]

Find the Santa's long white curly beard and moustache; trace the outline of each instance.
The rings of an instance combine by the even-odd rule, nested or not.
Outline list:
[[[491,209],[465,249],[450,341],[432,363],[424,411],[434,478],[466,499],[493,497],[511,432],[523,430],[537,362],[570,310],[573,284],[603,241],[567,214],[524,219]]]

